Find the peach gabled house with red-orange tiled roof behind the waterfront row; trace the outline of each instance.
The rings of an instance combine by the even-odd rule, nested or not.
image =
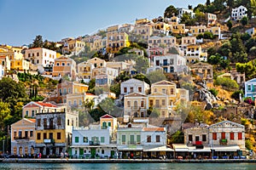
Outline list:
[[[59,111],[60,108],[58,108],[56,105],[52,105],[50,103],[43,103],[43,102],[35,102],[31,101],[28,104],[24,105],[22,107],[22,117],[35,117],[37,113],[40,111]]]

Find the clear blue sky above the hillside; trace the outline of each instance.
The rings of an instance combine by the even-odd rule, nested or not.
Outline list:
[[[79,37],[136,19],[162,16],[169,5],[193,8],[207,0],[0,0],[0,44],[21,46]]]

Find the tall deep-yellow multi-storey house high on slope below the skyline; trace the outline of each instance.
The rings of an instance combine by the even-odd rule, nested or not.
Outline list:
[[[129,47],[128,34],[125,32],[111,31],[107,33],[107,51],[115,54],[121,48]]]

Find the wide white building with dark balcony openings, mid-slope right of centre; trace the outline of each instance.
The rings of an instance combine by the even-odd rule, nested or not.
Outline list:
[[[186,59],[178,54],[154,57],[154,67],[161,66],[164,72],[179,72],[186,69]]]

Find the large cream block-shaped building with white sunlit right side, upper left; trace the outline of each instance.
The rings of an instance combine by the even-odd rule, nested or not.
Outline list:
[[[34,65],[52,65],[55,63],[56,52],[46,48],[29,48],[25,50],[25,59],[31,60]]]

